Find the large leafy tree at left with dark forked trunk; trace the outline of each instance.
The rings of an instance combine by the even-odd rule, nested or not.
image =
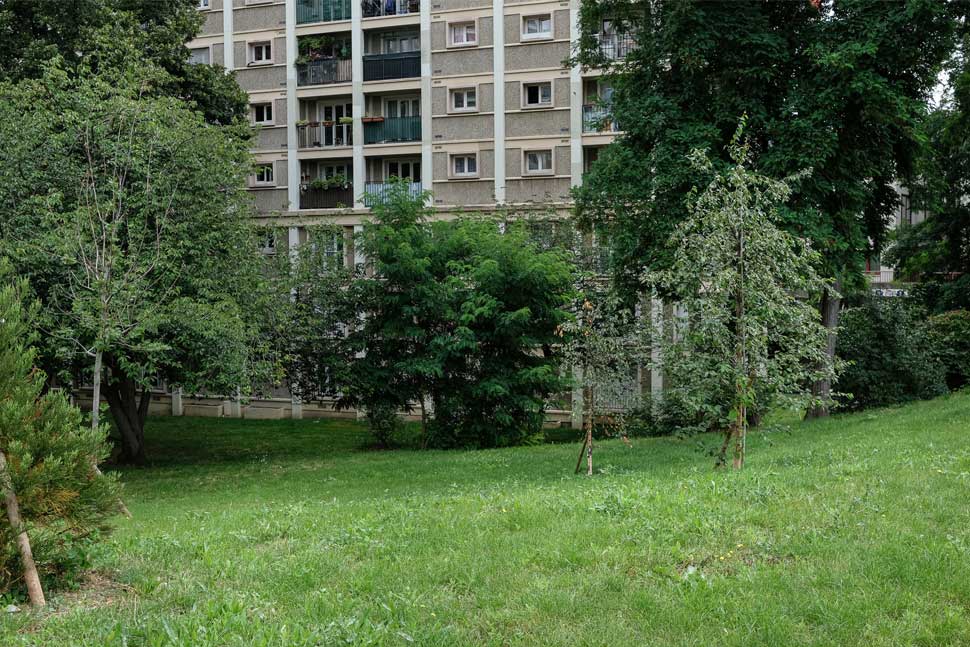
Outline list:
[[[159,96],[168,78],[82,65],[0,86],[0,254],[43,303],[49,365],[90,375],[103,359],[130,462],[156,379],[234,392],[258,364],[248,127]]]

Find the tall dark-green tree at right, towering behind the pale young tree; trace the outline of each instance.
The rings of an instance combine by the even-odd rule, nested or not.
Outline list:
[[[957,4],[583,3],[576,58],[610,68],[625,134],[594,163],[577,203],[588,220],[612,225],[616,276],[635,290],[639,268],[669,265],[684,196],[730,166],[726,144],[747,114],[757,170],[778,179],[813,170],[782,211],[785,227],[812,240],[834,285],[861,286],[864,259],[883,246],[897,204],[892,183],[912,170]],[[614,46],[624,38],[631,47]],[[625,60],[610,60],[626,49]],[[694,149],[714,156],[709,170],[688,163]],[[840,300],[828,290],[819,299],[831,356]],[[821,399],[829,389],[817,385]]]

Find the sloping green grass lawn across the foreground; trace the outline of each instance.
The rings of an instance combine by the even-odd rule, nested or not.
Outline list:
[[[98,577],[0,645],[970,645],[970,393],[754,434],[358,449],[155,419]]]

